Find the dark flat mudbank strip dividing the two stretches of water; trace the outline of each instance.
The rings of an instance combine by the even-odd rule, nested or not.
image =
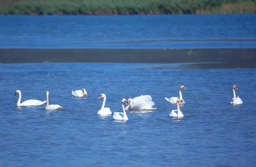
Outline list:
[[[0,63],[196,63],[190,68],[256,68],[256,48],[236,49],[0,49]],[[212,63],[214,62],[214,63]],[[205,64],[207,63],[207,64]]]

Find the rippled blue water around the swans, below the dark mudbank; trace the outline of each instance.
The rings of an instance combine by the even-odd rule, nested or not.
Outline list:
[[[256,69],[155,69],[166,64],[48,63],[0,65],[1,167],[253,167],[256,165]],[[184,117],[170,118],[185,85]],[[230,105],[232,86],[242,105]],[[72,90],[85,88],[87,98]],[[17,108],[22,99],[63,106]],[[149,94],[157,110],[128,112],[127,122],[97,115],[122,111],[122,98]],[[198,100],[196,100],[198,98]]]

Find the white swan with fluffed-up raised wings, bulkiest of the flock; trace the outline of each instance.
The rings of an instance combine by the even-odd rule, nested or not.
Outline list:
[[[156,110],[157,108],[152,108],[153,105],[154,102],[152,101],[152,97],[150,95],[141,95],[135,97],[134,99],[128,99],[128,106],[126,106],[125,110]]]

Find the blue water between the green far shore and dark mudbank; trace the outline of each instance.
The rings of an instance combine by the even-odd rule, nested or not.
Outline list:
[[[256,14],[0,15],[0,23],[0,48],[256,47]]]

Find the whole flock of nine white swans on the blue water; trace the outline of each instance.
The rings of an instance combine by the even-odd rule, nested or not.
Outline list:
[[[241,105],[243,101],[239,96],[236,97],[236,92],[235,89],[238,90],[236,85],[233,85],[233,95],[234,97],[232,98],[230,104],[233,105]],[[170,97],[169,99],[165,97],[165,99],[171,103],[171,104],[176,104],[177,110],[172,110],[171,113],[169,114],[170,117],[183,117],[183,113],[180,111],[180,105],[185,104],[185,101],[183,100],[181,90],[185,90],[186,88],[181,85],[179,88],[179,97]],[[17,107],[21,106],[39,106],[39,105],[44,105],[44,103],[47,102],[47,105],[45,107],[45,110],[62,110],[63,107],[60,105],[49,105],[49,91],[46,92],[46,100],[41,102],[39,100],[26,100],[22,103],[21,101],[21,92],[20,90],[15,91],[15,95],[19,94],[19,99],[17,101]],[[85,89],[82,90],[77,90],[77,91],[72,91],[72,95],[75,97],[87,97],[87,92]],[[106,103],[106,95],[102,93],[99,95],[98,99],[103,98],[103,103],[102,103],[102,108],[98,111],[98,115],[111,115],[113,114],[113,119],[114,120],[128,120],[128,116],[126,114],[126,110],[131,111],[131,110],[136,110],[136,111],[142,111],[142,110],[156,110],[157,108],[152,108],[154,106],[154,102],[152,101],[152,98],[150,95],[141,95],[138,97],[135,97],[134,99],[122,99],[122,113],[119,112],[114,112],[112,113],[110,108],[105,108],[105,103]]]

